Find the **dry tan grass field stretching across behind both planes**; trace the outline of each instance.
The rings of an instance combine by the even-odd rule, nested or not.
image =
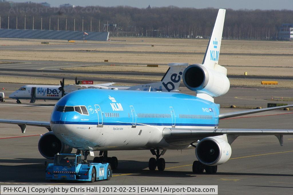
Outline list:
[[[36,47],[28,51],[17,51],[17,47],[2,50],[0,48],[0,59],[2,59],[1,61],[9,59],[81,62],[108,60],[109,64],[123,63],[124,65],[60,68],[64,70],[165,73],[168,63],[202,63],[204,55],[194,53],[205,53],[208,43],[208,40],[204,39],[112,37],[112,40],[111,42],[88,41],[86,43],[76,41],[74,48],[69,46],[62,49],[59,45],[71,45],[71,43],[66,40],[1,39],[0,46],[35,45]],[[38,45],[42,41],[48,41],[50,45],[56,45],[56,47],[40,50]],[[176,53],[170,54],[170,52]],[[144,65],[133,65],[135,63]],[[147,64],[160,65],[158,68],[154,68],[146,67]],[[228,75],[243,75],[244,72],[247,72],[248,75],[292,76],[293,42],[222,40],[219,64],[227,68]],[[109,79],[114,77],[113,75],[108,76]],[[139,77],[139,79],[147,78]],[[239,82],[240,80],[231,80],[231,84],[238,85]],[[243,85],[242,81],[240,85],[241,83]],[[250,83],[250,86],[253,85],[253,82],[247,83]],[[280,85],[276,87],[282,86],[283,82],[279,83]],[[292,83],[285,85],[290,86]]]

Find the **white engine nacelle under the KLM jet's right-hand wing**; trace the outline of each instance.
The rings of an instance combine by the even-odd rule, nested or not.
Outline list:
[[[231,146],[219,137],[206,137],[198,142],[195,155],[204,165],[220,165],[231,157]]]

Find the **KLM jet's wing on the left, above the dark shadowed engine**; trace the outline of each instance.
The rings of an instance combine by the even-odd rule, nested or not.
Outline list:
[[[18,125],[21,128],[22,133],[25,133],[26,125],[45,127],[49,131],[52,131],[50,127],[50,122],[47,122],[47,121],[0,119],[0,123],[9,123],[9,124]]]

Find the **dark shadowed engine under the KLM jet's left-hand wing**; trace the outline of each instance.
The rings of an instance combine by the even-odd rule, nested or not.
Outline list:
[[[57,153],[71,153],[72,148],[62,143],[53,132],[47,132],[39,140],[38,148],[42,156],[54,159]]]

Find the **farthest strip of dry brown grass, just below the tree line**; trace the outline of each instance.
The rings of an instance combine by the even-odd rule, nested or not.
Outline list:
[[[115,38],[115,40],[118,38]],[[138,52],[182,52],[205,53],[208,40],[205,39],[156,39],[156,38],[125,38],[125,41],[98,42],[109,44],[109,47],[89,45],[87,48],[75,47],[66,50],[91,50],[91,51],[138,51]],[[118,40],[123,40],[119,38]],[[142,42],[142,40],[144,42]],[[93,42],[91,42],[93,43]],[[113,44],[123,46],[113,47]],[[152,47],[151,45],[154,45]],[[50,50],[50,49],[48,49]],[[54,49],[63,50],[63,49]],[[222,40],[221,53],[245,53],[245,54],[293,54],[292,42],[277,41],[242,41]]]

